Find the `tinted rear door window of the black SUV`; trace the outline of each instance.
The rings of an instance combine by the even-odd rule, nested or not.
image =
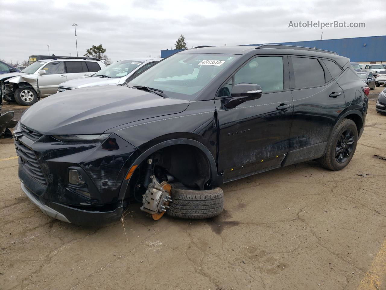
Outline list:
[[[325,83],[324,70],[316,58],[292,57],[295,87],[316,87]]]

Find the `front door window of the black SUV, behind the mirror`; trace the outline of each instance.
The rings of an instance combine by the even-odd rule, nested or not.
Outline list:
[[[234,85],[257,84],[263,92],[283,90],[284,69],[281,56],[257,56],[234,75]]]

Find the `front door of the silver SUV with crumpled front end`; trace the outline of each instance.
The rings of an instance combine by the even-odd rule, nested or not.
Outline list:
[[[42,70],[46,71],[45,75],[38,75],[37,85],[39,86],[42,97],[55,94],[58,91],[59,84],[67,80],[64,73],[63,61],[52,61],[47,63]]]

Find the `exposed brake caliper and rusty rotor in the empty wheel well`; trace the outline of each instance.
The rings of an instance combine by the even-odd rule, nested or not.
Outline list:
[[[154,220],[159,220],[169,208],[171,186],[167,181],[160,184],[154,175],[150,178],[152,181],[143,195],[141,210],[150,213]]]

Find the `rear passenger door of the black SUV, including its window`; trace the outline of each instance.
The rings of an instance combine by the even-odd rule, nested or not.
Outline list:
[[[330,132],[345,109],[344,92],[332,77],[337,78],[342,73],[337,63],[291,56],[289,70],[294,111],[290,152],[284,165],[321,157]]]

